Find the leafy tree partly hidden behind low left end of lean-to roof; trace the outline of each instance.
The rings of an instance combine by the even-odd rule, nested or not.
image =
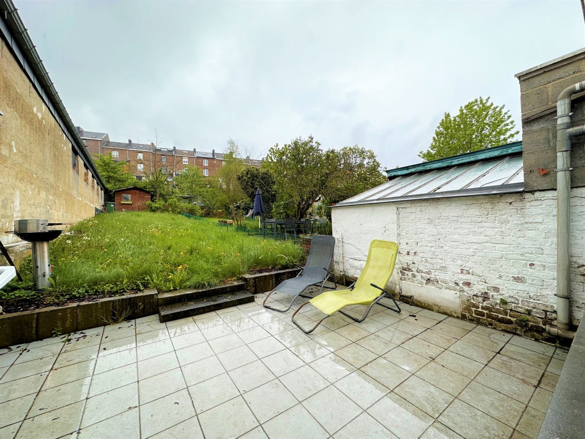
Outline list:
[[[385,180],[376,154],[361,146],[330,149],[325,153],[325,163],[330,169],[323,189],[323,204],[327,206],[328,216],[331,216],[331,204],[360,194]]]

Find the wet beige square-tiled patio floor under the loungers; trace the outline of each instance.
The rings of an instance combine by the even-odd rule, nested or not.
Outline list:
[[[566,349],[402,308],[307,336],[251,303],[0,349],[0,438],[538,435]]]

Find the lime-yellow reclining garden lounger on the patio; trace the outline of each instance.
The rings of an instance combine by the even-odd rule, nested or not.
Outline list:
[[[397,253],[397,243],[374,239],[374,241],[370,243],[366,266],[364,266],[364,269],[362,270],[362,273],[360,273],[356,282],[350,285],[346,290],[326,291],[325,293],[319,294],[319,296],[306,301],[292,314],[292,323],[297,325],[297,327],[300,328],[302,332],[305,332],[305,334],[310,334],[319,326],[319,324],[321,324],[322,321],[337,311],[357,323],[366,320],[368,313],[376,303],[400,313],[400,306],[398,306],[398,303],[394,300],[390,291],[386,290],[386,284],[388,283],[388,280],[390,280],[390,276],[394,271],[394,263],[396,262]],[[392,299],[395,307],[382,303],[380,300],[384,297]],[[314,327],[305,331],[301,325],[294,320],[294,316],[308,303],[311,303],[326,315],[319,320]],[[363,317],[356,318],[353,317],[353,315],[342,311],[342,308],[352,305],[365,305],[369,307]]]

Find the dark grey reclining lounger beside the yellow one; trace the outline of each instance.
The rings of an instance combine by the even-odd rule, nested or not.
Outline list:
[[[297,277],[284,280],[278,284],[276,288],[268,293],[262,306],[269,310],[285,313],[290,310],[294,300],[297,299],[298,296],[301,296],[301,293],[308,287],[321,284],[321,290],[319,290],[319,294],[321,294],[325,282],[327,282],[329,277],[333,278],[333,275],[329,271],[329,266],[333,260],[333,248],[335,248],[335,238],[333,238],[333,236],[314,236],[311,239],[311,248],[309,249],[307,263],[305,263],[304,267],[301,267],[301,272],[298,273]],[[335,280],[333,280],[333,285],[337,288]],[[274,293],[274,291],[292,296],[290,305],[284,310],[266,304],[270,294]]]

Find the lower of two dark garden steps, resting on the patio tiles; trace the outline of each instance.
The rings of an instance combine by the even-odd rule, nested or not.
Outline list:
[[[254,294],[250,294],[244,290],[216,294],[215,296],[199,297],[195,300],[159,306],[159,320],[161,322],[177,320],[178,318],[209,313],[253,301]]]

